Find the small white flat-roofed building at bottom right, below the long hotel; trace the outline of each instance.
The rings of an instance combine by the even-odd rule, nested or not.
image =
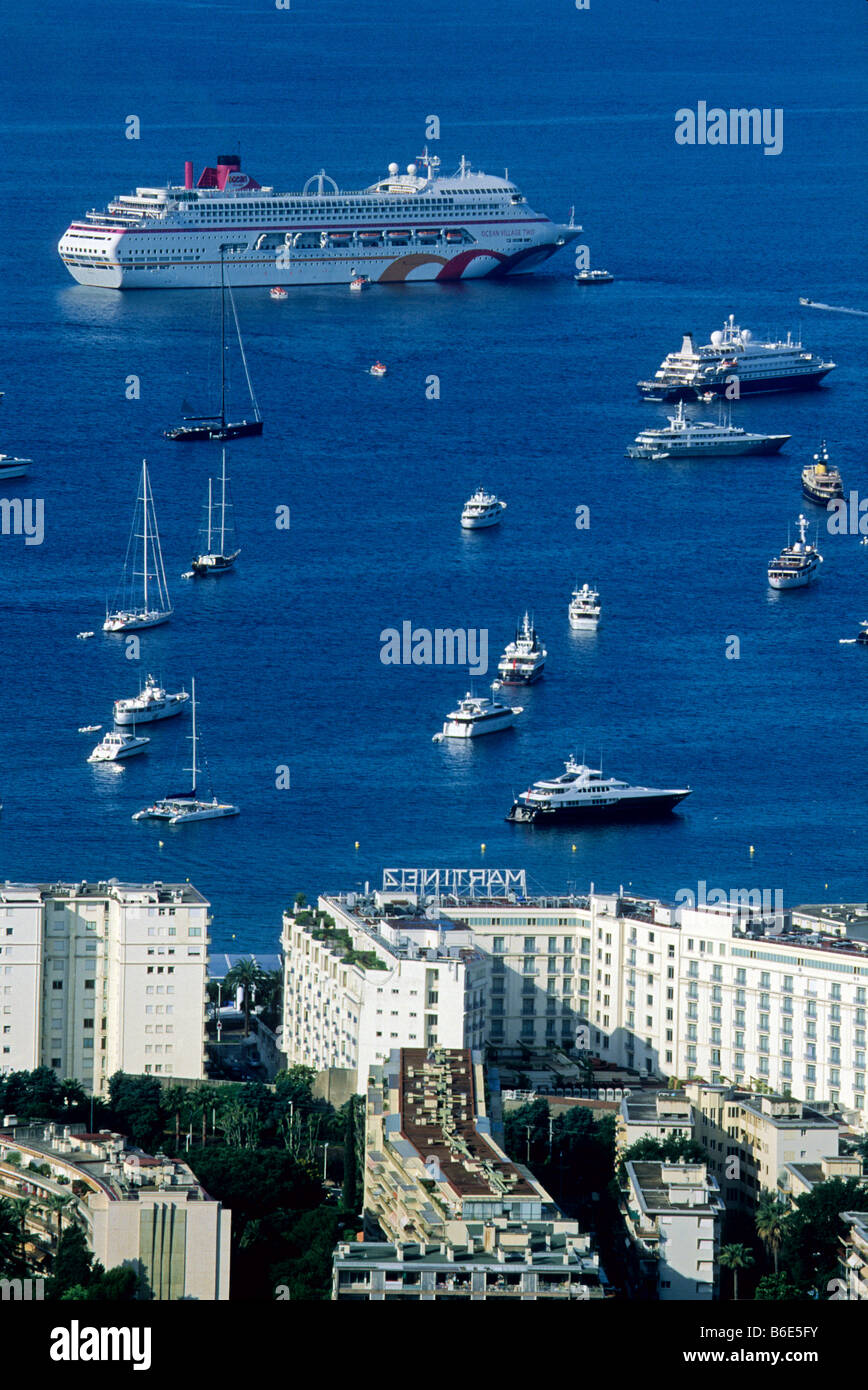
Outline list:
[[[627,1163],[622,1213],[645,1293],[715,1297],[723,1202],[705,1163]]]

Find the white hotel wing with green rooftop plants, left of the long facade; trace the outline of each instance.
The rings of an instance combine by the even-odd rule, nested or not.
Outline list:
[[[396,1047],[479,1048],[487,966],[451,920],[388,913],[355,894],[321,897],[335,929],[284,917],[284,1026],[289,1065],[353,1074],[364,1093],[371,1066]]]

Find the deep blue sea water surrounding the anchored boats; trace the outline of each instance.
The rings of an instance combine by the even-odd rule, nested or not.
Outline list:
[[[544,14],[530,0],[50,0],[13,15],[26,61],[7,65],[0,125],[0,448],[35,460],[8,488],[45,499],[46,537],[0,538],[0,874],[189,877],[214,903],[216,947],[260,949],[299,888],[392,865],[526,867],[547,890],[666,895],[705,878],[864,898],[868,653],[839,638],[868,617],[868,548],[823,535],[814,588],[773,595],[765,578],[821,436],[846,486],[868,486],[868,318],[798,309],[798,295],[868,309],[864,21],[857,0],[549,0]],[[673,114],[698,100],[782,107],[783,153],[676,146]],[[616,282],[579,291],[559,253],[502,284],[317,288],[284,303],[239,292],[266,418],[262,439],[231,450],[243,553],[236,573],[184,584],[218,449],[160,431],[213,357],[209,296],[77,286],[57,238],[238,140],[262,182],[295,188],[324,165],[360,186],[419,153],[428,114],[447,168],[462,153],[508,165],[536,208],[565,218],[574,204]],[[791,442],[772,459],[625,460],[666,413],[638,399],[637,378],[730,311],[757,335],[801,321],[805,345],[837,363],[818,393],[737,407],[744,427]],[[376,357],[381,381],[366,374]],[[430,374],[440,400],[426,399]],[[175,616],[143,634],[135,663],[99,628],[142,456]],[[458,516],[477,482],[509,510],[467,535]],[[289,532],[274,527],[281,503]],[[595,637],[569,630],[576,578],[601,591]],[[520,727],[433,744],[467,676],[384,666],[381,630],[483,627],[494,666],[524,606],[549,656]],[[81,628],[97,637],[77,642]],[[725,656],[730,634],[740,660]],[[85,762],[77,727],[106,723],[147,669],[172,687],[196,674],[204,753],[235,820],[131,821],[184,781],[185,720],[152,727],[122,771]],[[504,823],[513,790],[583,748],[618,776],[694,794],[652,827]]]

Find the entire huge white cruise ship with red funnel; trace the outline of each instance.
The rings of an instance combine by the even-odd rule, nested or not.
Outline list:
[[[536,213],[508,177],[462,156],[441,174],[427,150],[401,174],[341,190],[324,170],[281,193],[221,154],[193,182],[136,188],[74,221],[60,257],[81,285],[199,289],[220,285],[349,285],[474,279],[534,270],[581,228]]]

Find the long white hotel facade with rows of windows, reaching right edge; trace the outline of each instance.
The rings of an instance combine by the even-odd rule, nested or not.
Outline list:
[[[488,955],[490,1042],[570,1045],[587,1024],[591,1052],[643,1074],[768,1087],[868,1125],[864,941],[623,894],[438,905]]]

